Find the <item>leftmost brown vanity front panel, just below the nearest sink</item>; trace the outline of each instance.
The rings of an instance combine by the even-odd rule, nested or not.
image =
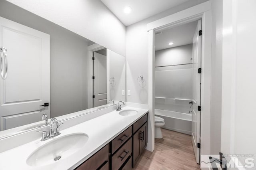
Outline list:
[[[77,170],[96,170],[96,169],[100,168],[100,166],[105,161],[109,161],[108,152],[109,152],[109,144],[104,146],[101,150],[99,150],[96,154],[94,154],[92,157],[90,157],[88,160],[86,160],[86,162],[81,164],[76,169]],[[107,162],[107,164],[108,164],[108,162]],[[105,169],[106,167],[108,169],[108,166],[105,166],[105,165],[100,169]]]

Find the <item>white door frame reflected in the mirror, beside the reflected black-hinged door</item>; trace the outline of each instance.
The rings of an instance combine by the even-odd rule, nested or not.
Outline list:
[[[89,75],[88,75],[88,108],[92,108],[93,107],[93,61],[92,61],[92,57],[93,57],[93,52],[94,51],[98,51],[101,49],[104,49],[105,47],[103,47],[102,45],[99,45],[97,43],[94,43],[92,45],[88,45],[87,50],[88,50],[88,60],[89,60]]]

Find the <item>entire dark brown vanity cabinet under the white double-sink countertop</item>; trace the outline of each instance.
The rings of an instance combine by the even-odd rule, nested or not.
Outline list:
[[[131,170],[148,139],[148,114],[96,152],[77,170]]]

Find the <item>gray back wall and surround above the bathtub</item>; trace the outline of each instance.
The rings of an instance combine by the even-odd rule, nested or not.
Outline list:
[[[156,51],[155,68],[155,108],[188,113],[192,99],[192,44]],[[159,98],[160,97],[160,98]],[[174,100],[180,99],[180,100]],[[184,99],[184,100],[182,100]]]

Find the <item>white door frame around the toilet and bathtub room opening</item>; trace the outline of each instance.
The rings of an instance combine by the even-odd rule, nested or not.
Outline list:
[[[200,155],[210,153],[210,90],[211,90],[211,51],[212,51],[212,12],[211,1],[198,4],[170,16],[147,24],[148,31],[148,146],[154,151],[154,62],[155,32],[173,28],[188,22],[202,20],[202,86],[201,86],[201,148]]]

